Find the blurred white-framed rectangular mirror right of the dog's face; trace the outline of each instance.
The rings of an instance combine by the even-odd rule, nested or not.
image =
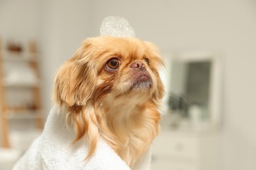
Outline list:
[[[213,52],[165,55],[163,123],[173,128],[209,129],[220,124],[221,62]]]

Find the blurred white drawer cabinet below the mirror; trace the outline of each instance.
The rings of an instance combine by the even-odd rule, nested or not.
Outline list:
[[[218,131],[163,129],[152,144],[152,170],[217,170],[219,142]]]

